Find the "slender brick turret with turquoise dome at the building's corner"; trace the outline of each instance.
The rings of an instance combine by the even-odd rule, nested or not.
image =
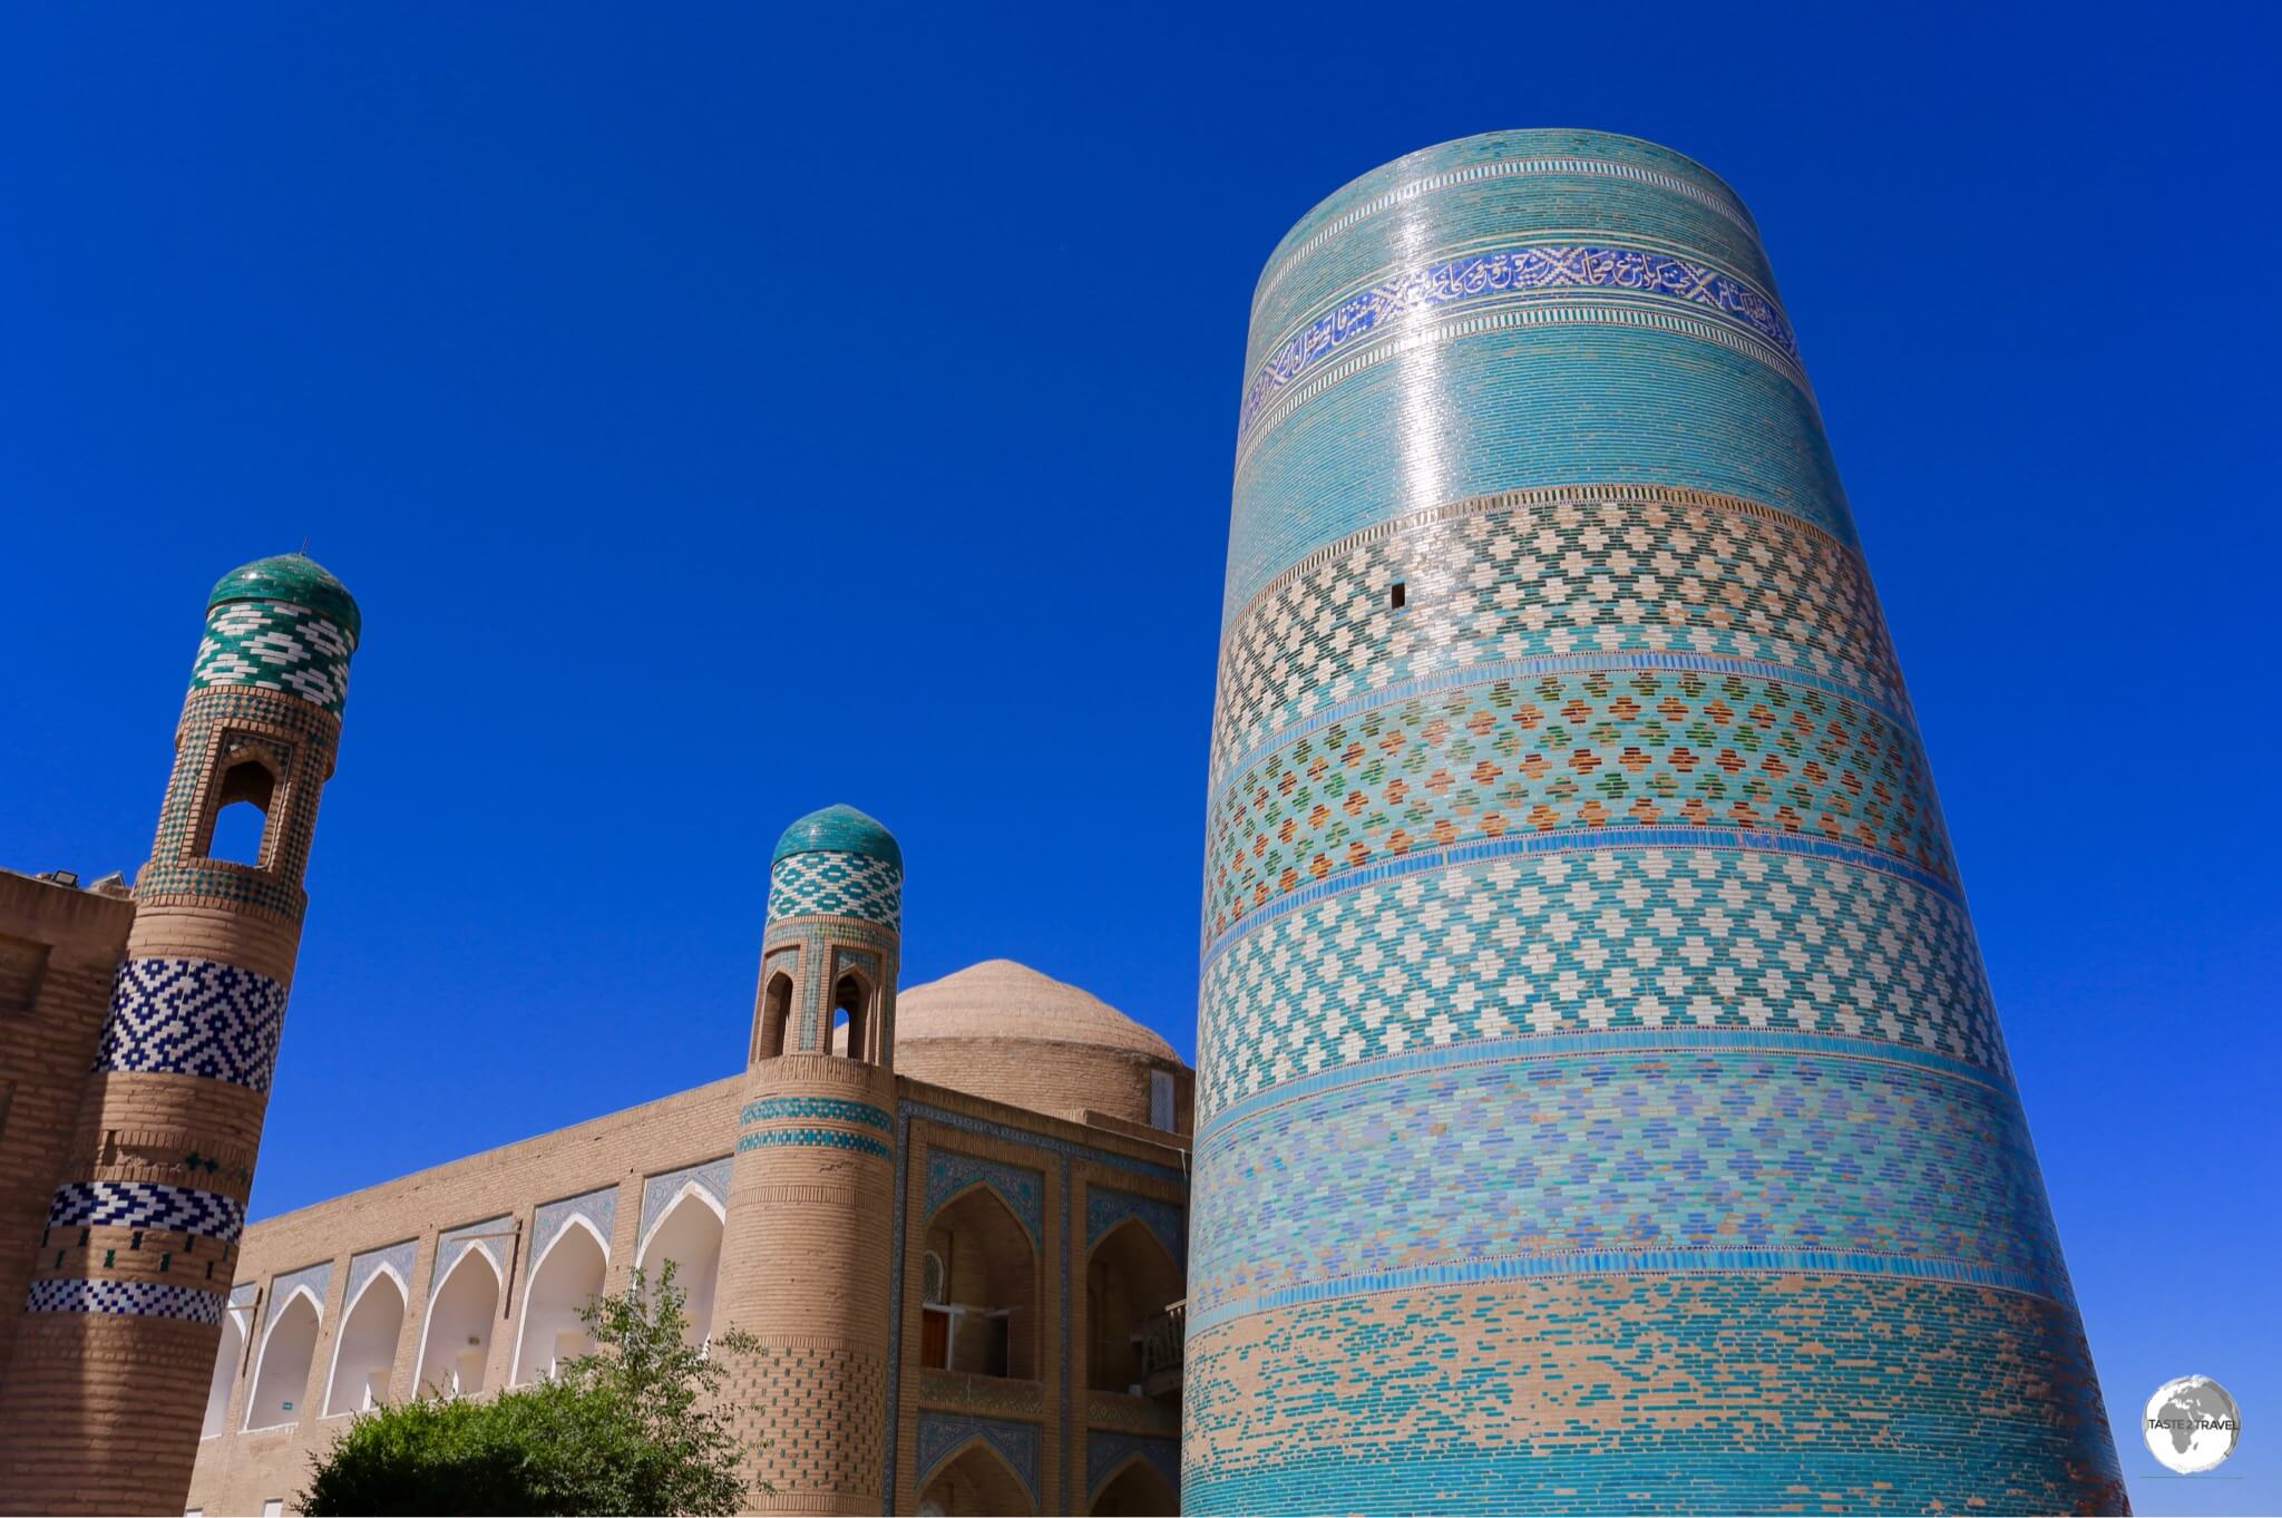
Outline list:
[[[785,829],[714,1308],[762,1342],[733,1388],[769,1440],[755,1511],[881,1511],[901,924],[888,829],[849,806]]]

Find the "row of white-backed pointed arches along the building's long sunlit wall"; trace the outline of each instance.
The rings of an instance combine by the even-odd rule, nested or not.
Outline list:
[[[721,1203],[696,1185],[685,1185],[644,1235],[634,1265],[655,1271],[675,1262],[675,1283],[687,1292],[689,1338],[703,1345],[712,1333],[714,1290],[721,1267]],[[545,1242],[532,1265],[509,1356],[509,1386],[529,1386],[591,1349],[580,1310],[602,1294],[609,1276],[609,1240],[573,1214]],[[244,1431],[281,1429],[304,1415],[304,1397],[322,1418],[340,1418],[388,1402],[397,1358],[411,1349],[415,1392],[472,1397],[484,1390],[493,1335],[504,1322],[507,1274],[491,1240],[459,1246],[429,1292],[418,1340],[408,1342],[411,1283],[395,1262],[377,1265],[342,1303],[340,1331],[324,1345],[322,1287],[301,1281],[272,1301],[260,1342],[246,1354],[253,1313],[230,1308],[221,1322],[221,1349],[205,1399],[205,1436],[228,1431],[230,1395],[240,1365],[249,1390]],[[319,1386],[310,1372],[326,1354]]]

